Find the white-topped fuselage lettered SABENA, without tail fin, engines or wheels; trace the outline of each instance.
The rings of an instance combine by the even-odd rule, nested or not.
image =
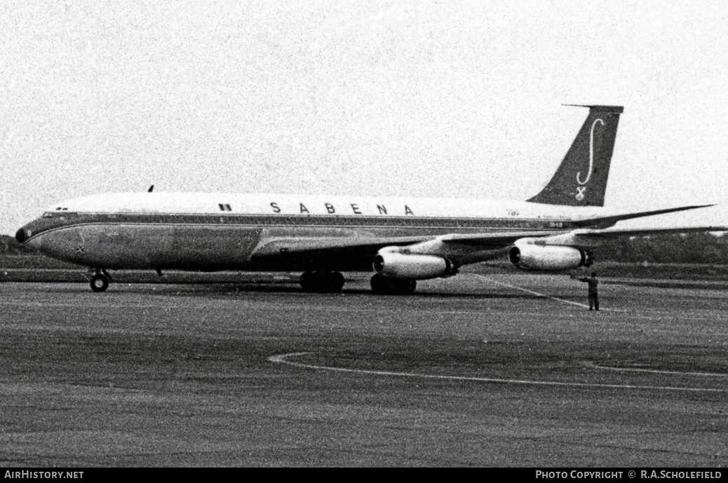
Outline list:
[[[92,268],[371,271],[372,252],[287,255],[285,240],[561,232],[603,211],[527,201],[120,193],[49,207],[18,238],[53,258]],[[256,253],[275,240],[281,241],[276,252]]]

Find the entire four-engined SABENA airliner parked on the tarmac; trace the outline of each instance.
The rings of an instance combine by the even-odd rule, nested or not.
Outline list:
[[[89,267],[91,288],[110,269],[301,271],[306,292],[339,292],[341,271],[373,271],[375,293],[411,293],[416,281],[507,255],[526,270],[590,266],[617,236],[727,228],[610,228],[645,212],[604,208],[620,106],[589,115],[550,182],[527,201],[294,196],[234,193],[114,193],[49,207],[16,233],[45,255]]]

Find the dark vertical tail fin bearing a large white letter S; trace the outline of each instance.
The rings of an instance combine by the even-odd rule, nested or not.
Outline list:
[[[604,206],[609,163],[624,108],[618,105],[579,107],[589,108],[587,120],[549,183],[528,201],[574,207]]]

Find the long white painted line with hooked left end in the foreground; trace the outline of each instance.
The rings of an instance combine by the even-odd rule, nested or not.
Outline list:
[[[292,352],[290,354],[278,354],[270,356],[269,362],[276,364],[289,364],[291,366],[303,367],[304,369],[328,370],[337,372],[352,372],[355,374],[369,375],[386,375],[398,378],[423,378],[423,379],[445,379],[445,380],[472,380],[482,383],[506,383],[521,384],[527,386],[569,386],[582,388],[617,388],[617,389],[660,389],[662,391],[688,391],[688,392],[728,392],[728,389],[716,388],[678,388],[670,386],[630,386],[628,384],[596,384],[596,383],[559,383],[548,380],[523,380],[523,379],[496,379],[496,378],[470,378],[460,375],[437,375],[437,374],[416,374],[414,372],[390,372],[390,371],[374,371],[367,369],[347,369],[344,367],[317,366],[313,364],[303,364],[301,362],[289,361],[289,357],[305,356],[314,354],[312,352]]]

